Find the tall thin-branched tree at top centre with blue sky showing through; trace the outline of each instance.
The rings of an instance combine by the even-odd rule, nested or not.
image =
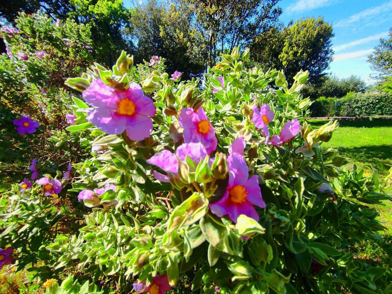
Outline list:
[[[208,64],[219,52],[246,46],[254,35],[274,26],[282,10],[280,0],[178,0],[193,12],[193,23],[202,34]]]

